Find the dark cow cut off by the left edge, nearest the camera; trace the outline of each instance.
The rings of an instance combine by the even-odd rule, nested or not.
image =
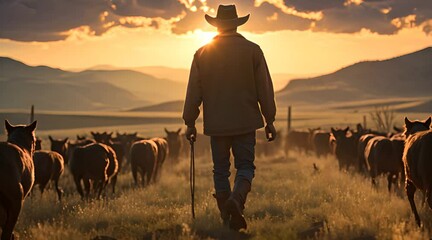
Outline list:
[[[37,122],[12,126],[5,120],[7,142],[0,142],[1,239],[14,239],[13,230],[24,199],[34,183],[33,153]]]

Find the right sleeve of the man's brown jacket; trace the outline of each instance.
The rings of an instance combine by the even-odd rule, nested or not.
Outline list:
[[[255,84],[261,112],[267,124],[275,121],[276,103],[274,100],[273,83],[264,54],[260,48],[255,54]]]

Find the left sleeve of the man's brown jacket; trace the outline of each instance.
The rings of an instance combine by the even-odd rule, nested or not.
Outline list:
[[[189,82],[186,91],[186,99],[183,108],[183,120],[188,127],[195,126],[195,120],[200,114],[200,105],[202,102],[202,89],[198,73],[196,55],[192,61],[189,74]]]

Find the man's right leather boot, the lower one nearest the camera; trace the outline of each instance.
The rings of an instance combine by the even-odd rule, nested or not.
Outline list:
[[[243,216],[243,209],[247,194],[250,190],[250,182],[245,179],[240,179],[234,184],[234,191],[226,201],[226,209],[231,215],[230,228],[235,231],[247,228],[246,220]]]

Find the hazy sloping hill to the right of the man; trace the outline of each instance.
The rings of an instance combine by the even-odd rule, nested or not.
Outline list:
[[[334,73],[290,81],[278,104],[322,104],[387,97],[430,96],[432,47],[383,61],[366,61]]]

